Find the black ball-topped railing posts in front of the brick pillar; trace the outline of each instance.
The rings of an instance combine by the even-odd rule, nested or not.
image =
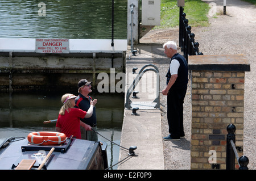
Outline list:
[[[236,148],[236,126],[234,124],[229,124],[226,127],[228,134],[226,136],[226,170],[234,170],[235,169],[235,159],[237,158],[239,164],[239,170],[248,170],[249,159],[242,155],[240,158],[238,157],[237,148]],[[235,158],[236,157],[236,158]]]

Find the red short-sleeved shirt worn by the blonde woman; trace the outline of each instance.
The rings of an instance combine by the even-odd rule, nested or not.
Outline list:
[[[56,127],[61,128],[61,133],[66,134],[67,137],[73,135],[73,137],[81,139],[80,118],[84,118],[86,111],[78,108],[69,108],[68,111],[65,110],[64,115],[58,116]]]

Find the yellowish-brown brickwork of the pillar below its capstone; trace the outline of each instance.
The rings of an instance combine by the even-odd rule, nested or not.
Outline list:
[[[210,150],[225,169],[226,127],[236,125],[236,146],[243,146],[244,72],[192,71],[191,169],[211,169]],[[240,153],[242,155],[242,153]]]

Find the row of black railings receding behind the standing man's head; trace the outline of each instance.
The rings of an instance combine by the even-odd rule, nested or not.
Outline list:
[[[203,53],[199,52],[199,43],[195,42],[195,34],[191,32],[191,26],[188,25],[188,19],[183,11],[183,7],[180,7],[179,47],[188,61],[189,55],[202,55]]]

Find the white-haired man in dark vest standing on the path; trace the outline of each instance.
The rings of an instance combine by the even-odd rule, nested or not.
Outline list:
[[[183,56],[177,53],[174,41],[163,45],[164,53],[171,58],[167,77],[166,89],[162,91],[167,95],[167,120],[169,135],[163,140],[175,141],[185,137],[183,128],[183,103],[188,85],[188,63]]]

